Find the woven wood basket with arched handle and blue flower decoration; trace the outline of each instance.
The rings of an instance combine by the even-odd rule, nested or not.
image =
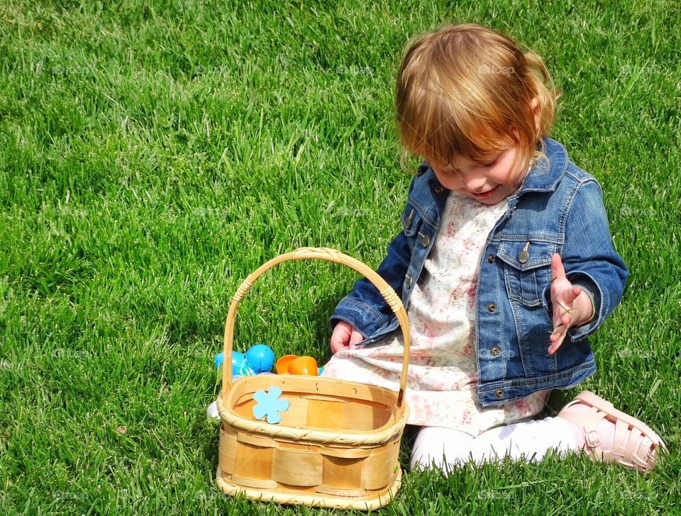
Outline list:
[[[399,444],[409,416],[404,403],[409,364],[409,320],[393,289],[369,267],[341,252],[303,247],[271,259],[239,286],[225,325],[225,357],[231,357],[239,302],[255,279],[287,260],[322,259],[345,264],[374,284],[397,315],[404,335],[399,392],[319,376],[257,375],[232,382],[231,359],[223,367],[216,481],[228,495],[277,503],[373,510],[397,493],[402,478]],[[289,409],[276,425],[253,416],[253,395],[278,386]]]

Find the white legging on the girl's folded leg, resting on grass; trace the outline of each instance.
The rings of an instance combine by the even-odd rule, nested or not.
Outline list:
[[[433,466],[443,472],[467,461],[493,462],[508,456],[514,460],[541,460],[549,449],[565,454],[579,449],[577,428],[562,417],[546,417],[495,427],[477,437],[443,427],[423,427],[411,453],[411,469]]]

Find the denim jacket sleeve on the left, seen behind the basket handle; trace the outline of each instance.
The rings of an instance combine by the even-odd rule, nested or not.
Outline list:
[[[416,178],[411,180],[409,193],[414,188],[415,180]],[[410,260],[411,247],[406,235],[401,231],[388,246],[386,257],[376,269],[377,274],[392,286],[400,298],[402,298],[404,276],[409,269]],[[367,339],[395,325],[397,316],[394,315],[378,289],[368,279],[362,278],[355,282],[353,290],[336,306],[329,320],[332,329],[339,320],[349,322]]]

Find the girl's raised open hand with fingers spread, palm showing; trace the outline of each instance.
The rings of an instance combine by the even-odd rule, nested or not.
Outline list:
[[[563,344],[567,330],[572,326],[579,326],[591,317],[592,304],[582,287],[575,286],[565,277],[565,268],[560,254],[551,257],[551,303],[553,304],[553,333],[548,354],[554,354]]]

